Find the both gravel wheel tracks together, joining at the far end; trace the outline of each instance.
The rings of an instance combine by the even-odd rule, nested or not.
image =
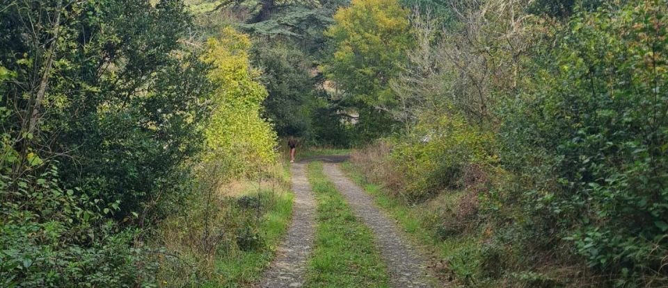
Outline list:
[[[276,259],[258,287],[302,287],[306,264],[315,239],[316,201],[306,176],[310,161],[323,161],[324,173],[347,199],[353,212],[374,232],[376,246],[388,266],[390,285],[396,288],[436,287],[427,273],[426,260],[401,235],[395,221],[386,217],[371,196],[347,178],[337,167],[347,156],[318,156],[292,164],[292,191],[295,194],[292,223]]]

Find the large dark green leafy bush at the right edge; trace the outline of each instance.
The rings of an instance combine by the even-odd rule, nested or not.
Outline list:
[[[524,210],[620,285],[666,275],[665,4],[573,17],[558,48],[536,58],[534,86],[504,111],[502,161],[525,184]]]

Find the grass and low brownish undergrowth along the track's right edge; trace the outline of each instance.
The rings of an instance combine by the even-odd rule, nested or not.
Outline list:
[[[480,183],[444,189],[420,202],[407,201],[397,190],[388,189],[402,186],[396,185],[400,176],[391,176],[393,164],[385,154],[391,149],[383,145],[353,151],[351,162],[342,168],[411,239],[431,251],[429,266],[443,282],[464,287],[596,287],[596,278],[583,264],[556,262],[563,259],[557,253],[537,252],[518,240],[522,230],[486,217],[479,203]],[[379,178],[378,170],[367,166],[371,162],[388,167],[381,172],[387,178]],[[535,258],[530,262],[528,257]]]

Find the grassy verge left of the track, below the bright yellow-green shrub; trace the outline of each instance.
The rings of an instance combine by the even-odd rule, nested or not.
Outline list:
[[[273,260],[292,217],[289,170],[193,194],[154,235],[161,287],[248,287]],[[211,192],[207,192],[211,191]]]

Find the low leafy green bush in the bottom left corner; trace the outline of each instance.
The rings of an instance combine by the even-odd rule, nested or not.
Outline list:
[[[133,247],[138,231],[106,220],[118,211],[118,203],[61,189],[54,166],[39,178],[19,178],[15,192],[8,189],[6,176],[2,178],[0,286],[152,283],[157,264],[150,253]]]

